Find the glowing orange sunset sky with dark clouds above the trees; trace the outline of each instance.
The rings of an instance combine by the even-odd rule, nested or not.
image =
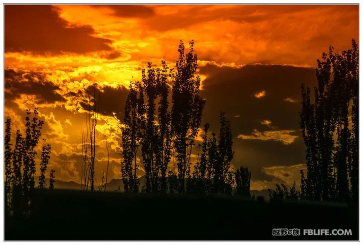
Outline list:
[[[305,146],[300,84],[316,84],[316,60],[329,45],[348,49],[359,35],[359,5],[5,5],[5,117],[21,129],[37,106],[52,146],[56,179],[80,181],[82,100],[102,88],[96,178],[121,178],[121,130],[128,85],[151,61],[173,66],[179,41],[194,40],[202,124],[218,131],[225,111],[234,167],[252,171],[251,189],[300,184]],[[87,89],[88,88],[88,89]],[[200,126],[202,128],[202,125]],[[40,155],[40,154],[38,154]],[[139,175],[143,175],[140,169]]]

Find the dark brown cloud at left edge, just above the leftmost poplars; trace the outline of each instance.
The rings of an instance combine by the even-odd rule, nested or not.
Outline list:
[[[18,98],[22,94],[36,95],[39,103],[65,101],[54,83],[45,81],[40,73],[5,69],[5,100]]]

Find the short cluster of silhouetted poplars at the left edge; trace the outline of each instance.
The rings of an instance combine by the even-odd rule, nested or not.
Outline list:
[[[15,132],[15,144],[11,144],[11,119],[5,121],[4,133],[4,167],[5,167],[5,212],[14,217],[27,217],[31,210],[31,196],[35,183],[36,147],[41,137],[44,121],[38,117],[37,108],[27,109],[25,116],[25,134]],[[32,118],[31,118],[32,117]],[[46,188],[45,174],[50,159],[50,144],[42,139],[43,146],[40,158],[40,175],[37,188]],[[50,170],[49,189],[54,188],[55,171]]]

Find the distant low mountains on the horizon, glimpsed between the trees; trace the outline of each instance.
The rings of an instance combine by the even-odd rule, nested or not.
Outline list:
[[[145,176],[140,177],[140,191],[141,187],[145,184]],[[45,180],[47,187],[49,186],[49,179]],[[37,182],[36,182],[37,183]],[[63,189],[63,190],[81,190],[81,185],[74,181],[61,181],[55,180],[54,182],[55,189]],[[96,187],[98,190],[98,186]],[[124,183],[122,183],[121,179],[112,179],[106,185],[106,191],[124,191]],[[251,190],[251,194],[254,194],[255,197],[262,196],[265,200],[269,200],[268,190]]]

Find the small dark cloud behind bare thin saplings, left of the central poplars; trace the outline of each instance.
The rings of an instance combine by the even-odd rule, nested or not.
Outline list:
[[[96,86],[86,88],[89,97],[96,97],[96,103],[99,105],[99,112],[107,116],[113,116],[116,113],[118,119],[122,119],[125,102],[129,90],[124,86],[113,88],[104,86],[101,89]],[[88,110],[87,103],[81,103],[83,109]]]

